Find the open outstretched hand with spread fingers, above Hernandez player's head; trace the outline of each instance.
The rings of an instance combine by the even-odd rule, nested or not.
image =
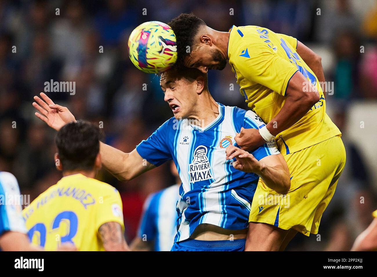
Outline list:
[[[35,112],[35,116],[46,122],[51,128],[59,131],[65,124],[76,121],[74,115],[67,109],[55,104],[46,94],[40,93],[41,98],[34,96],[33,107],[38,110]]]

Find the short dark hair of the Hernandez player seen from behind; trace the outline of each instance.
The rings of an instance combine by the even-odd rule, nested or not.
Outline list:
[[[92,170],[100,151],[100,129],[87,121],[70,122],[55,138],[63,170]]]

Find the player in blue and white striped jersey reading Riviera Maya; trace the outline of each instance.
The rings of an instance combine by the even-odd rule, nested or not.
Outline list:
[[[160,84],[174,117],[130,153],[101,143],[103,165],[127,181],[173,160],[182,185],[172,250],[243,251],[259,177],[285,194],[290,187],[287,164],[273,140],[250,153],[236,147],[234,137],[243,128],[264,123],[252,111],[217,103],[208,91],[207,74],[172,69],[162,73]],[[47,104],[35,96],[38,104],[33,105],[49,126],[58,130],[75,120],[66,107],[44,93],[41,97]]]

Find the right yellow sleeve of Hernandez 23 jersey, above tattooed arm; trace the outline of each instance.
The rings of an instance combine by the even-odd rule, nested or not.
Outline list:
[[[118,222],[124,230],[123,205],[118,190],[109,185],[103,190],[102,197],[97,205],[96,230],[107,222]]]

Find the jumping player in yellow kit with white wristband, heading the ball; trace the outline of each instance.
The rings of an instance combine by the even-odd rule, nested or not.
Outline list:
[[[177,38],[178,64],[207,72],[224,69],[228,60],[248,106],[267,122],[259,130],[241,130],[238,146],[251,151],[276,139],[290,170],[285,196],[259,180],[245,249],[283,250],[297,232],[317,234],[345,165],[341,133],[326,114],[320,57],[296,38],[259,26],[219,32],[194,14],[168,24]]]

